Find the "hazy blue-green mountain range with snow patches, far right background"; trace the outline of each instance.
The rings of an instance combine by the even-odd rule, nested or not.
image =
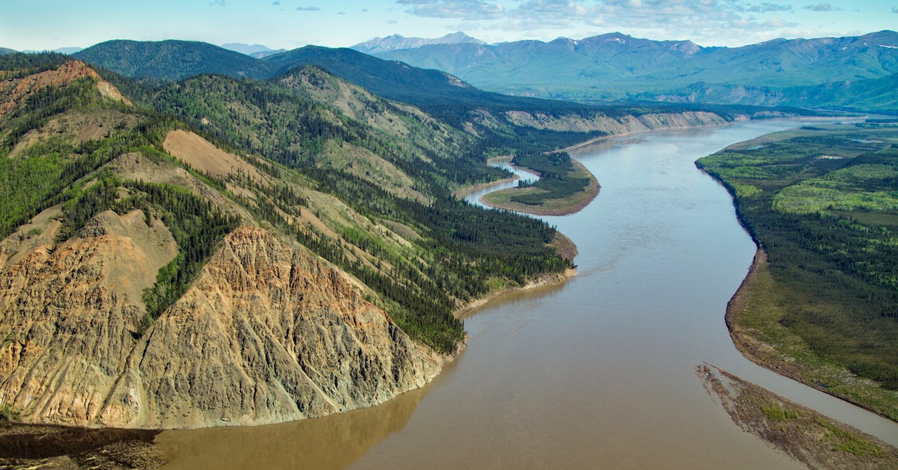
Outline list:
[[[436,44],[374,53],[432,67],[485,90],[573,100],[624,100],[674,94],[697,84],[792,87],[877,79],[898,73],[898,33],[774,39],[742,48],[701,48],[621,33],[582,40]],[[689,100],[688,95],[684,101]],[[709,98],[710,99],[710,98]],[[721,103],[743,102],[737,97]]]

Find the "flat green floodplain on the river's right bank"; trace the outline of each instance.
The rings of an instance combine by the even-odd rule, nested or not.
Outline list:
[[[812,128],[781,138],[697,162],[729,188],[769,255],[735,326],[796,358],[783,367],[790,377],[898,419],[898,128]]]

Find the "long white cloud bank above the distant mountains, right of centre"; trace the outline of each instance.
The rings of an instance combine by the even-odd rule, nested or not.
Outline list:
[[[744,45],[777,37],[819,37],[828,31],[806,30],[797,6],[785,0],[395,0],[407,13],[462,22],[449,30],[480,30],[486,38],[551,38],[553,32],[624,31],[649,39],[692,39],[705,45]],[[499,3],[501,2],[501,3]],[[820,6],[823,5],[823,6]],[[813,8],[829,8],[829,4]],[[898,7],[896,7],[898,8]],[[461,27],[461,25],[464,25]],[[490,31],[493,31],[492,33]],[[792,33],[794,31],[794,33]],[[578,36],[584,37],[584,36]]]

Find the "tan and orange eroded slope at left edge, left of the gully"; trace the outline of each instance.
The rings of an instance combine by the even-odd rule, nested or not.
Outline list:
[[[147,229],[140,211],[100,213],[55,249],[13,247],[21,231],[3,243],[26,252],[0,272],[0,403],[31,421],[92,422],[135,342],[141,292],[177,253],[174,239],[161,222]]]

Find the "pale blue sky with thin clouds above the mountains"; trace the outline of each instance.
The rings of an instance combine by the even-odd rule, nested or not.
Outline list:
[[[16,50],[110,39],[339,48],[456,30],[489,43],[620,31],[738,47],[898,30],[898,0],[0,0],[0,47]]]

